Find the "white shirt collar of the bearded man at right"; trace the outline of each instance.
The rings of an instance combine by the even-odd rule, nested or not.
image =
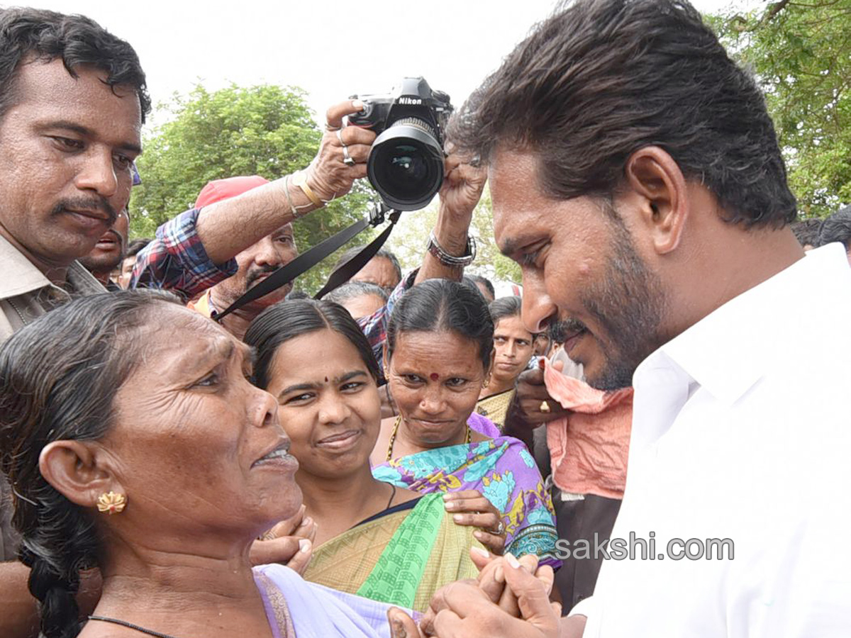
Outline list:
[[[792,340],[814,328],[814,316],[831,316],[831,300],[841,294],[851,294],[851,269],[841,247],[811,250],[648,356],[636,371],[637,383],[672,362],[732,404],[773,369]]]

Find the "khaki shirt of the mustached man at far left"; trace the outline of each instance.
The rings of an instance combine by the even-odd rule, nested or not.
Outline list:
[[[0,236],[0,343],[73,297],[104,291],[100,282],[76,261],[68,268],[66,287],[56,286]],[[0,561],[13,561],[17,550],[11,526],[11,495],[5,476],[0,476]]]

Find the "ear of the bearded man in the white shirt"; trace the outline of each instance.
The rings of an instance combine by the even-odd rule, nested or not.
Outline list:
[[[688,220],[688,192],[683,171],[659,146],[645,146],[626,160],[626,183],[637,196],[640,222],[658,254],[679,245]]]

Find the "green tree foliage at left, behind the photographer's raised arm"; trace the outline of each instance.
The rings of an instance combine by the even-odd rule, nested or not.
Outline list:
[[[212,179],[262,175],[277,179],[305,168],[322,132],[298,88],[231,85],[214,93],[203,86],[161,105],[168,121],[145,136],[137,165],[142,184],[130,202],[131,235],[153,236],[158,225],[188,208]],[[363,214],[366,185],[294,224],[303,252]],[[298,287],[320,288],[334,256],[299,278]]]

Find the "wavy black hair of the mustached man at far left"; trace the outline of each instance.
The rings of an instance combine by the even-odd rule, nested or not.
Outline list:
[[[57,59],[71,77],[89,67],[103,71],[113,90],[133,88],[145,122],[151,98],[133,47],[84,15],[28,8],[0,9],[0,117],[18,99],[15,85],[21,64]]]

